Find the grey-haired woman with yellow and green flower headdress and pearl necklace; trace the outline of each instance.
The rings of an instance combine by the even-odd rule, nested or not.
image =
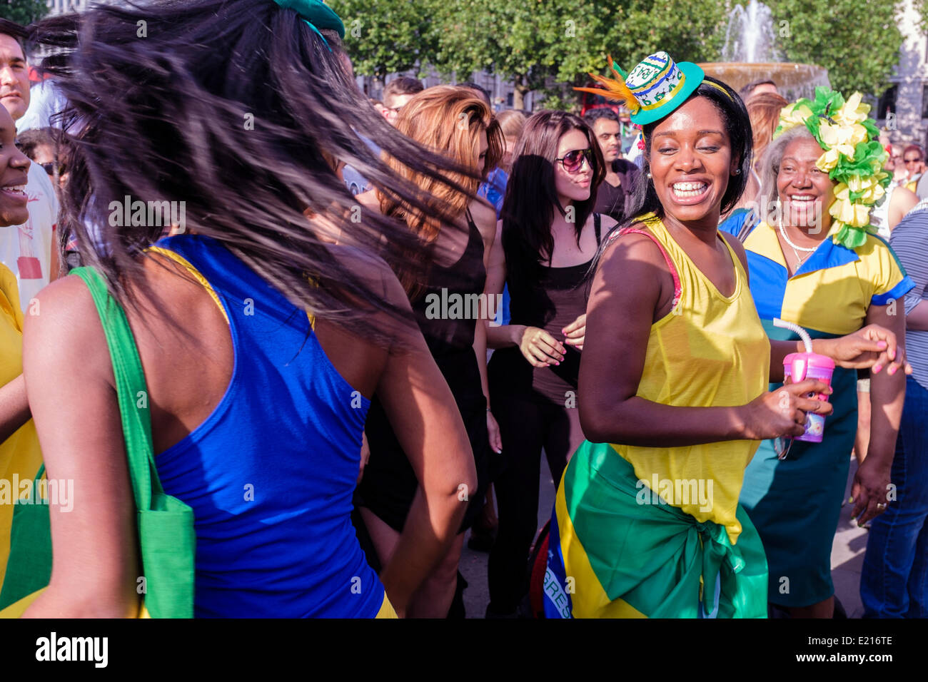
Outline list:
[[[801,99],[780,113],[760,164],[763,222],[741,236],[754,302],[771,339],[796,339],[773,327],[777,317],[806,328],[816,343],[870,324],[904,338],[896,299],[913,283],[870,225],[890,177],[869,111],[859,93],[845,100],[818,87],[814,100]],[[888,504],[905,394],[904,373],[882,370],[880,364],[870,370],[870,454],[852,489],[860,524]],[[793,616],[828,618],[833,612],[831,539],[857,428],[856,380],[853,369],[835,369],[834,413],[822,443],[793,442],[784,452],[783,443],[767,440],[745,470],[741,504],[764,542],[769,601]]]

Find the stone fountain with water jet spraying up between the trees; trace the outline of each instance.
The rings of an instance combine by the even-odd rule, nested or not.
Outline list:
[[[816,85],[830,85],[826,69],[782,61],[777,37],[770,8],[750,0],[747,6],[735,6],[728,15],[723,60],[700,66],[706,75],[735,90],[754,81],[771,80],[780,95],[791,102],[799,97],[815,97]]]

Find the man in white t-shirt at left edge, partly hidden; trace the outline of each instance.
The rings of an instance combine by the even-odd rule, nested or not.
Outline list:
[[[26,63],[19,24],[0,19],[0,104],[14,122],[29,109],[29,65]],[[29,197],[29,220],[23,225],[0,230],[0,262],[16,275],[19,302],[23,312],[35,294],[58,277],[58,245],[55,227],[58,222],[58,199],[48,175],[37,163],[29,167],[26,185]]]

